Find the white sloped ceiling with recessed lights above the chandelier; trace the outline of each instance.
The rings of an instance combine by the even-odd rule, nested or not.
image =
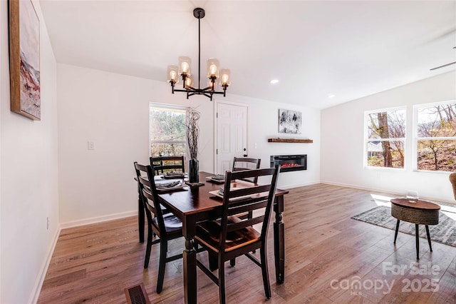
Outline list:
[[[314,108],[368,96],[456,64],[456,1],[40,1],[59,63],[166,80],[192,58],[202,7],[206,60],[231,69],[227,94]],[[279,83],[271,85],[271,79]],[[171,91],[171,90],[170,90]],[[328,98],[329,95],[335,95]]]

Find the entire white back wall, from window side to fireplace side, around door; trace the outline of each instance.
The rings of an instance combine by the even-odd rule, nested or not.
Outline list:
[[[58,180],[63,227],[137,212],[133,162],[148,163],[150,102],[197,107],[199,169],[214,172],[214,102],[204,96],[172,95],[168,83],[58,64]],[[250,156],[269,166],[274,154],[309,154],[309,170],[284,173],[279,186],[319,181],[317,110],[229,95],[219,100],[249,105]],[[279,108],[303,111],[304,133],[311,144],[267,143],[277,137]],[[87,142],[95,142],[88,151]],[[254,143],[258,148],[254,148]]]

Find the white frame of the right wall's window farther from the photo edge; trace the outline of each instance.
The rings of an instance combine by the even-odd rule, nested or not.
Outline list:
[[[380,113],[380,112],[393,112],[393,111],[404,111],[404,121],[405,121],[405,136],[404,137],[399,137],[399,138],[375,138],[375,139],[370,139],[368,138],[369,136],[369,114],[372,113]],[[363,168],[369,169],[369,170],[393,170],[393,171],[405,171],[407,166],[408,166],[408,161],[407,161],[407,133],[408,133],[408,128],[407,128],[407,106],[395,106],[391,108],[378,108],[375,110],[368,110],[364,111],[364,116],[363,116]],[[396,168],[396,167],[383,167],[383,166],[369,166],[368,165],[368,143],[373,142],[373,141],[402,141],[403,142],[403,156],[404,156],[404,163],[402,168]]]

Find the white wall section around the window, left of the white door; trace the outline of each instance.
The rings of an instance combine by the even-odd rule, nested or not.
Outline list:
[[[213,146],[212,118],[206,118],[212,117],[211,103],[202,96],[187,101],[172,95],[165,82],[58,64],[57,88],[64,226],[137,212],[133,162],[149,163],[150,102],[198,107],[202,145]],[[88,141],[95,142],[95,150],[88,150]],[[212,151],[200,155],[209,160],[209,167],[200,163],[200,168],[212,169]]]

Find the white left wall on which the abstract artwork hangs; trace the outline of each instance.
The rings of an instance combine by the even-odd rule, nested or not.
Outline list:
[[[56,61],[33,1],[41,26],[41,121],[12,113],[7,4],[0,1],[0,303],[33,303],[59,228]]]

